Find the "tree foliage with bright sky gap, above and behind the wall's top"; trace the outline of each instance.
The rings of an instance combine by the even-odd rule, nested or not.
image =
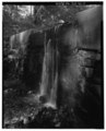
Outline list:
[[[84,5],[3,5],[3,57],[10,53],[9,39],[12,35],[30,28],[48,27],[60,20],[73,22],[76,12],[84,10]],[[31,13],[30,11],[31,10]]]

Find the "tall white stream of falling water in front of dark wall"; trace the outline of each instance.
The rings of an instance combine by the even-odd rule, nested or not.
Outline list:
[[[51,39],[45,44],[40,94],[46,98],[45,106],[56,108],[58,85],[58,48]]]

